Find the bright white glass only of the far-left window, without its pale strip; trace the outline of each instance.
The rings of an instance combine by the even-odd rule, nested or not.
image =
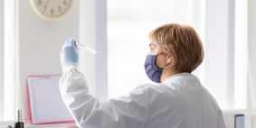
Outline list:
[[[14,120],[14,0],[5,0],[5,121]]]

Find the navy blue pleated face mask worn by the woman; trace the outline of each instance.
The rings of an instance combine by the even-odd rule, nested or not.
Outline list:
[[[163,73],[163,69],[158,69],[155,65],[156,56],[158,55],[159,54],[147,55],[144,65],[147,77],[156,83],[160,83],[160,78]]]

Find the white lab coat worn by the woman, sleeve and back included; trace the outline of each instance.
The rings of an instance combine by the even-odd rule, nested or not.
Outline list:
[[[79,127],[225,128],[215,99],[190,73],[176,74],[159,84],[141,85],[126,96],[101,102],[90,95],[76,63],[62,70],[62,99]]]

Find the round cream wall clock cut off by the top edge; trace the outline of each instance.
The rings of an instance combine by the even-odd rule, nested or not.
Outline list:
[[[71,11],[74,0],[30,0],[33,11],[45,20],[59,20]]]

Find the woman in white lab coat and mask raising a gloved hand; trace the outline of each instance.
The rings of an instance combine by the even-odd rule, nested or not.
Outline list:
[[[77,69],[74,39],[62,47],[62,99],[79,127],[224,128],[213,96],[191,74],[204,59],[203,44],[188,25],[169,23],[149,33],[147,77],[156,84],[138,86],[127,96],[100,102],[91,96]]]

